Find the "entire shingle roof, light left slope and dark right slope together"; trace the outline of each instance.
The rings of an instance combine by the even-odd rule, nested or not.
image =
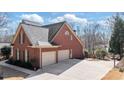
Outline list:
[[[21,25],[28,35],[31,43],[36,45],[38,44],[38,41],[51,41],[64,23],[65,21],[41,26],[41,24],[25,20],[22,21]]]

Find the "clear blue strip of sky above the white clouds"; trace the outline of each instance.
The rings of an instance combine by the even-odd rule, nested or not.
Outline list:
[[[106,17],[112,16],[113,12],[11,12],[9,13],[10,18],[14,20],[21,20],[22,15],[37,14],[44,19],[54,19],[65,14],[73,14],[76,17],[87,18],[89,20],[104,20]]]

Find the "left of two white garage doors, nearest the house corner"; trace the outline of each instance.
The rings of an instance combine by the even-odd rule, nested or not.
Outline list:
[[[56,52],[42,52],[42,66],[56,63]]]

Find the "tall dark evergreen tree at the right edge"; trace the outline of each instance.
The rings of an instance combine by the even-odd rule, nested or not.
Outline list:
[[[123,46],[124,46],[124,21],[117,14],[114,17],[112,35],[109,42],[109,52],[113,54],[119,54],[120,58],[123,56]]]

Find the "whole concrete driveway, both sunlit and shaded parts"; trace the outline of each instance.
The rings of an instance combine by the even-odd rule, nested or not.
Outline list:
[[[100,80],[113,68],[113,61],[68,59],[45,66],[28,79]]]

